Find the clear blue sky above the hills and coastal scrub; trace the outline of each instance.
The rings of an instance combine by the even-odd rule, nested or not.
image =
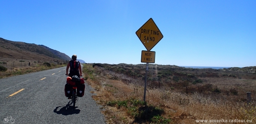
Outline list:
[[[139,64],[135,32],[149,18],[164,36],[155,64],[256,66],[255,0],[0,0],[0,37],[87,63]]]

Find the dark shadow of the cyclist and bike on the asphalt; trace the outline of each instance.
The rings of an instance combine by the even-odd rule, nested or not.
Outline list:
[[[69,101],[70,102],[70,101]],[[72,104],[72,103],[71,103]],[[56,107],[54,110],[53,110],[53,112],[55,112],[55,113],[57,113],[57,114],[63,114],[63,115],[71,115],[71,114],[78,114],[78,113],[80,113],[80,109],[75,109],[75,108],[77,108],[77,107],[75,107],[75,108],[73,108],[73,106],[70,106],[71,105],[70,103],[68,103],[66,106],[58,106],[58,107]],[[57,109],[59,108],[59,107],[62,107],[62,108],[60,108],[59,109],[59,111],[57,111]]]

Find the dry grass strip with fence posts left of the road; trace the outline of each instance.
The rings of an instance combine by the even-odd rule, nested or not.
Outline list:
[[[30,63],[30,65],[28,65],[28,63]],[[66,62],[59,61],[36,62],[27,60],[0,62],[0,78],[59,68],[66,66],[66,64]]]

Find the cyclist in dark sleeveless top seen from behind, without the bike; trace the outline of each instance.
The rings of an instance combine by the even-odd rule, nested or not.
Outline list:
[[[73,75],[76,75],[78,77],[82,76],[81,64],[79,61],[76,60],[76,57],[77,57],[76,55],[73,55],[71,57],[72,60],[69,61],[68,65],[66,67],[66,75],[68,75],[68,69],[70,67],[69,77],[72,77]]]

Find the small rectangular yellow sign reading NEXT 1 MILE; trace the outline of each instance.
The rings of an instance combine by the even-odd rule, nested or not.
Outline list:
[[[140,62],[155,63],[155,51],[142,50],[142,58]]]

